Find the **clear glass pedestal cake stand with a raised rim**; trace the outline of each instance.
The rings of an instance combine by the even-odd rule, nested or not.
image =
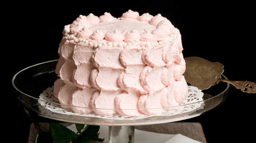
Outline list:
[[[74,114],[72,112],[72,114],[66,114],[65,111],[55,112],[51,110],[53,108],[61,108],[60,103],[39,98],[40,94],[48,87],[53,87],[54,81],[58,79],[58,76],[55,73],[57,62],[58,60],[39,63],[23,69],[22,71],[19,71],[17,74],[15,74],[12,79],[12,85],[16,89],[18,102],[21,103],[21,105],[26,109],[48,119],[78,124],[108,126],[109,143],[133,143],[134,126],[136,125],[160,124],[197,117],[224,103],[229,92],[229,83],[220,82],[218,85],[214,85],[207,90],[203,90],[203,97],[197,102],[182,104],[176,107],[168,107],[173,108],[174,110],[176,108],[184,109],[182,109],[181,112],[176,112],[176,114],[165,114],[164,116],[144,115],[142,118],[136,118],[121,117],[120,115],[114,115],[111,117],[102,117],[97,115],[84,116],[75,114],[74,112]],[[222,78],[227,79],[224,75],[222,75]],[[49,95],[53,95],[53,93],[49,93]],[[193,109],[192,111],[187,110],[188,108],[198,105],[199,107]]]

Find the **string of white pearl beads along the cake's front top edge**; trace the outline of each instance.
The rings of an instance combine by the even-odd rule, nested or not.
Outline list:
[[[66,28],[66,27],[65,27]],[[79,42],[83,42],[83,43],[88,43],[89,46],[93,45],[94,48],[99,48],[103,45],[107,45],[109,47],[123,47],[125,48],[126,45],[130,45],[130,44],[133,44],[134,46],[136,46],[136,43],[127,43],[127,44],[122,44],[122,43],[113,43],[113,42],[103,42],[102,44],[100,43],[92,43],[91,41],[89,42],[89,38],[77,38],[75,37],[74,35],[69,35],[68,34],[68,29],[64,29],[65,33],[64,36],[67,37],[67,40],[74,40],[75,43],[79,43]],[[178,28],[175,28],[175,33],[173,36],[170,37],[169,40],[160,40],[158,42],[148,42],[146,43],[145,45],[137,45],[138,47],[141,47],[142,50],[144,50],[146,47],[149,47],[150,45],[153,45],[154,47],[158,47],[158,46],[162,46],[163,44],[166,44],[166,43],[172,43],[177,37],[178,37],[178,33],[180,32],[180,30]]]

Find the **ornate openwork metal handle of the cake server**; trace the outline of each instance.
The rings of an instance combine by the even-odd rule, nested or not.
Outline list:
[[[217,84],[220,82],[227,82],[235,86],[237,89],[241,89],[243,92],[246,93],[256,93],[256,83],[250,81],[230,81],[226,79],[219,78],[217,80]]]

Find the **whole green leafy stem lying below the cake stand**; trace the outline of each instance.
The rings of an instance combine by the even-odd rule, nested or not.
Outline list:
[[[99,126],[75,124],[77,130],[77,133],[75,133],[59,123],[49,122],[49,129],[46,130],[32,119],[27,110],[25,110],[25,113],[32,120],[35,125],[35,129],[38,130],[38,134],[36,135],[33,143],[88,143],[92,140],[99,142],[104,141],[104,138],[102,139],[98,136]]]

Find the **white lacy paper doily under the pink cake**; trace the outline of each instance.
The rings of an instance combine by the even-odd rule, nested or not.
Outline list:
[[[95,112],[92,112],[90,114],[79,114],[79,113],[75,113],[71,109],[64,109],[60,105],[49,104],[49,102],[59,103],[58,99],[53,95],[53,87],[48,87],[46,90],[44,90],[43,93],[40,94],[39,99],[40,99],[39,103],[42,105],[42,107],[55,113],[103,118],[103,119],[120,119],[120,120],[123,120],[123,119],[134,120],[134,119],[144,119],[144,118],[154,117],[154,116],[173,116],[173,115],[178,115],[182,113],[192,113],[198,109],[202,109],[204,106],[203,102],[199,102],[199,101],[203,101],[203,92],[197,87],[193,87],[193,86],[188,86],[188,94],[187,94],[187,97],[185,98],[185,102],[180,104],[183,106],[177,106],[175,107],[175,109],[166,111],[161,114],[142,115],[142,116],[135,116],[135,117],[120,116],[119,114],[115,114],[112,116],[99,116],[99,115],[96,115]]]

